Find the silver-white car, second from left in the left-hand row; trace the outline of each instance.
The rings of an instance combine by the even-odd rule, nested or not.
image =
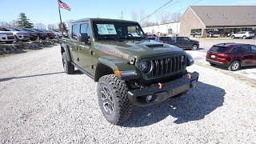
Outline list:
[[[0,30],[12,32],[15,36],[16,41],[26,42],[26,41],[30,40],[29,34],[26,33],[25,31],[18,31],[18,30],[15,30],[14,28],[10,28],[10,27],[0,27]]]

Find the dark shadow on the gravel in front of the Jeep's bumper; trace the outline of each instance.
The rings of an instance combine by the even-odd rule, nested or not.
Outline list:
[[[222,106],[225,94],[222,88],[198,82],[194,89],[178,98],[170,98],[154,106],[134,106],[134,117],[122,126],[149,126],[168,116],[174,117],[176,124],[197,121]]]

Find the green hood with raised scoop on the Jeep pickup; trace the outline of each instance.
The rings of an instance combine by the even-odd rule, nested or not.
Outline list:
[[[99,50],[119,58],[154,58],[171,54],[185,54],[184,50],[177,46],[161,42],[98,42]]]

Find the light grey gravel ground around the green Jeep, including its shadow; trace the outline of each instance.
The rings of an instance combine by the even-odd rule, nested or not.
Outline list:
[[[123,126],[106,122],[95,83],[63,73],[60,49],[0,58],[0,142],[256,143],[256,89],[191,66],[198,86],[155,106],[134,107]]]

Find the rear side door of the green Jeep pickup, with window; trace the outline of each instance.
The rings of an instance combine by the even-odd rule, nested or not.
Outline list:
[[[72,25],[71,38],[68,42],[72,62],[78,65],[78,24]]]

